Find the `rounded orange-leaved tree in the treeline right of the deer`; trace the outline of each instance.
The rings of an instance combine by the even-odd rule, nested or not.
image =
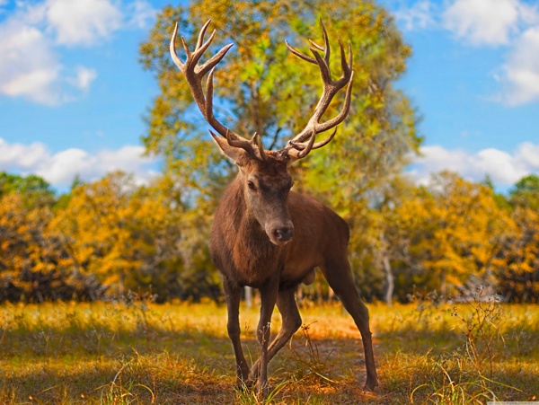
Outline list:
[[[400,182],[389,191],[377,207],[374,251],[385,273],[394,274],[400,300],[414,287],[447,296],[469,277],[492,281],[493,261],[513,223],[491,189],[441,172],[428,187]]]

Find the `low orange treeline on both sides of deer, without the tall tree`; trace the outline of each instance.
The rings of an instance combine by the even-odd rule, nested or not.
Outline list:
[[[214,202],[189,207],[167,175],[137,186],[110,173],[59,197],[37,176],[0,173],[0,301],[96,300],[152,291],[158,301],[220,300],[208,255]],[[429,187],[399,180],[345,215],[350,261],[367,300],[458,294],[473,278],[510,302],[539,302],[539,177],[508,196],[453,173]],[[303,296],[326,299],[317,280]]]

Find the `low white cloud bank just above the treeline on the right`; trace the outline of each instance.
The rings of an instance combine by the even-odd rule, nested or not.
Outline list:
[[[476,154],[448,150],[442,146],[423,146],[411,169],[420,184],[429,183],[430,174],[448,170],[467,180],[481,181],[488,174],[494,184],[507,188],[530,173],[539,174],[539,145],[525,142],[513,154],[494,148]]]

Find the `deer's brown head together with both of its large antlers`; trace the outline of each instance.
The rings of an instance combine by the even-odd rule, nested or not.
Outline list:
[[[226,52],[233,44],[221,48],[206,63],[199,65],[200,57],[208,49],[216,34],[216,31],[213,31],[209,39],[204,41],[204,35],[209,23],[210,21],[206,22],[200,30],[197,45],[192,53],[183,37],[181,37],[181,42],[187,55],[185,62],[182,62],[176,53],[175,42],[178,34],[178,24],[176,24],[170,45],[172,59],[185,75],[200,112],[218,134],[209,131],[211,136],[221,151],[240,168],[239,180],[242,182],[243,195],[248,207],[247,214],[253,216],[259,222],[272,243],[276,245],[286,244],[294,236],[294,225],[290,220],[287,207],[288,192],[293,181],[287,172],[287,168],[297,159],[304,158],[312,150],[327,145],[335,136],[336,129],[332,131],[330,136],[320,142],[315,142],[316,135],[337,127],[348,115],[354,75],[351,67],[351,46],[349,45],[349,59],[347,60],[344,48],[339,42],[342,76],[338,80],[332,80],[329,67],[329,40],[322,22],[324,46],[321,47],[310,41],[312,45],[311,52],[314,57],[306,56],[287,43],[287,47],[294,55],[319,66],[323,79],[323,93],[305,128],[289,140],[284,148],[278,151],[266,151],[261,144],[261,136],[258,134],[255,133],[251,139],[247,139],[226,128],[214,117],[214,68],[225,57]],[[321,51],[323,56],[320,54]],[[202,90],[202,78],[208,73],[205,93]],[[334,95],[347,84],[346,98],[340,113],[332,119],[320,122]]]

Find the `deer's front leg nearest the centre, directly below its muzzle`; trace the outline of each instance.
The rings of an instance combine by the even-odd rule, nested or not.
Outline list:
[[[265,396],[270,393],[268,383],[268,344],[270,342],[270,322],[273,308],[278,296],[278,277],[271,279],[266,286],[261,287],[261,319],[259,321],[256,336],[261,344],[261,357],[257,360],[260,364],[260,374],[258,375],[257,390]],[[256,375],[253,375],[256,378]]]

